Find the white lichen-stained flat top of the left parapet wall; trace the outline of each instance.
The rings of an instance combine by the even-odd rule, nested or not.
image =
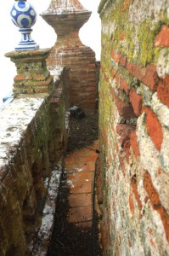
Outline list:
[[[42,106],[43,98],[17,98],[9,103],[0,112],[0,159],[8,161],[13,157],[10,154],[12,147],[20,144],[21,138],[31,123],[37,110]]]

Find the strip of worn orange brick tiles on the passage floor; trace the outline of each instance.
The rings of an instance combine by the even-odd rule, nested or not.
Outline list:
[[[98,140],[93,145],[70,153],[65,158],[65,171],[70,189],[68,221],[78,227],[91,227],[93,218],[93,178],[98,157]]]

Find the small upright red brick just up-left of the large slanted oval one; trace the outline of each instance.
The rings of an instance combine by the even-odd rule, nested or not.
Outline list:
[[[139,116],[142,113],[142,96],[138,95],[134,88],[130,91],[130,102],[132,103],[132,108],[134,113]]]

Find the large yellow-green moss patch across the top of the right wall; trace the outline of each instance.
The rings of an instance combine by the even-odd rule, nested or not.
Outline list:
[[[103,5],[104,3],[106,1],[102,1],[100,4]],[[123,0],[114,3],[110,1],[106,7],[106,15],[102,17],[103,28],[107,27],[107,31],[102,33],[102,61],[104,61],[107,74],[110,73],[111,63],[110,58],[105,60],[104,56],[111,54],[112,49],[118,50],[127,56],[128,61],[142,67],[156,61],[160,50],[154,47],[155,36],[160,32],[163,22],[168,24],[166,14],[162,13],[159,14],[161,22],[155,23],[153,19],[145,19],[139,26],[136,26],[129,21],[129,10],[121,11],[123,3]],[[121,32],[125,34],[124,40],[120,40]]]

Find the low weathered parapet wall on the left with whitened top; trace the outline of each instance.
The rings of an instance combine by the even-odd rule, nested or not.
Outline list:
[[[50,94],[18,96],[0,112],[1,256],[31,255],[50,177],[55,176],[55,166],[65,152],[65,82],[69,76],[63,68],[51,73]],[[54,198],[54,193],[48,198],[48,211],[54,207]],[[51,216],[44,218],[48,226]]]

